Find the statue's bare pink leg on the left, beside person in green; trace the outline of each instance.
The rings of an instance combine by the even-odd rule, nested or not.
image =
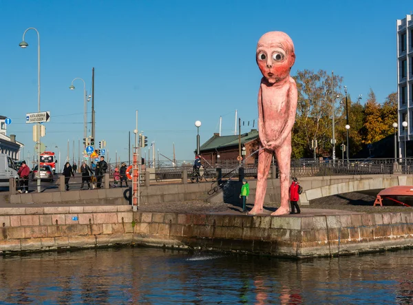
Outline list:
[[[258,153],[257,190],[255,191],[254,207],[251,211],[249,211],[249,215],[262,213],[266,193],[267,176],[270,171],[272,158],[273,152],[268,149],[261,149]]]

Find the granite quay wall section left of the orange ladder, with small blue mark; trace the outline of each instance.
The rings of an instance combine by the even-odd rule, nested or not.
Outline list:
[[[127,244],[133,240],[131,207],[0,209],[0,252],[52,251]]]

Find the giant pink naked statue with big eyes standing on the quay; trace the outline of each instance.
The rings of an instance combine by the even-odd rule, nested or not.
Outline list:
[[[254,207],[249,214],[262,213],[267,176],[273,154],[278,161],[281,206],[271,215],[290,211],[291,129],[297,109],[297,85],[290,77],[295,63],[293,41],[284,32],[268,32],[257,43],[257,64],[262,75],[258,92],[258,130],[262,149],[258,153],[258,180]]]

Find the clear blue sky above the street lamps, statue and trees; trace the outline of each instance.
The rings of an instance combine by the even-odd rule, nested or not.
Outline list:
[[[83,83],[76,81],[74,91],[69,86],[81,77],[90,92],[95,67],[95,142],[107,141],[112,162],[116,151],[128,158],[136,110],[138,129],[160,154],[172,158],[175,143],[176,158],[192,160],[195,120],[202,122],[201,144],[219,132],[220,116],[222,134],[233,133],[235,109],[251,122],[249,129],[256,123],[261,74],[255,47],[262,34],[290,35],[297,55],[293,75],[333,70],[353,99],[362,94],[366,101],[372,88],[383,103],[396,92],[396,19],[412,10],[411,0],[0,0],[0,115],[12,118],[8,135],[16,134],[25,155],[32,154],[25,114],[37,112],[36,32],[26,34],[27,49],[19,43],[34,27],[41,36],[41,111],[52,116],[42,138],[48,147],[61,147],[65,158],[67,140],[70,155],[75,140],[77,155]]]

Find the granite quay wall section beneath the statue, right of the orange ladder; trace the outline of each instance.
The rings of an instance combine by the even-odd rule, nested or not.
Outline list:
[[[136,213],[134,242],[257,255],[314,257],[413,245],[413,213],[312,217]]]

